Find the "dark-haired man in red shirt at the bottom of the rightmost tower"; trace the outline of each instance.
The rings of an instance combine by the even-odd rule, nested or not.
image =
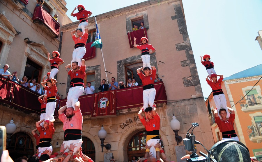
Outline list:
[[[235,111],[231,108],[228,108],[231,112],[229,119],[226,118],[227,112],[226,109],[220,109],[219,114],[221,116],[221,119],[218,116],[217,109],[214,110],[215,113],[215,122],[217,123],[217,126],[222,132],[222,140],[224,139],[232,139],[239,141],[238,135],[236,134],[236,131],[234,130],[233,122],[235,120]]]

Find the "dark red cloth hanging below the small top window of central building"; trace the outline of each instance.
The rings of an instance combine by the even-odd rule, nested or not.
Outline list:
[[[134,38],[137,38],[136,44],[141,45],[140,39],[142,37],[147,38],[146,29],[139,29],[128,33],[128,41],[130,48],[134,47]]]

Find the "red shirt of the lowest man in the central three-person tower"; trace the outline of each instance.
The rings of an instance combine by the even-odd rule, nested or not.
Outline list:
[[[146,131],[153,131],[153,130],[159,130],[160,129],[160,117],[158,114],[153,116],[154,119],[150,119],[148,122],[146,122],[144,116],[143,119],[140,119],[141,123],[145,126]]]

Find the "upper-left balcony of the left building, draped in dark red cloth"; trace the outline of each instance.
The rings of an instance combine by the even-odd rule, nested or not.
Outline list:
[[[46,31],[49,36],[58,38],[60,24],[41,6],[35,8],[32,19],[33,23]]]

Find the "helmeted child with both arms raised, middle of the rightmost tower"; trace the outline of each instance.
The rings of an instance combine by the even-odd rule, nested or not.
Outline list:
[[[217,76],[219,76],[219,80],[217,80]],[[211,76],[211,81],[208,80],[208,77],[206,77],[206,82],[208,83],[208,85],[212,88],[212,92],[213,92],[213,98],[215,101],[215,105],[217,107],[217,111],[219,112],[219,110],[221,108],[226,109],[226,118],[229,118],[230,114],[228,112],[228,107],[226,106],[226,96],[224,95],[222,88],[221,88],[221,82],[223,80],[223,75],[216,75],[216,74],[212,74]],[[221,118],[220,114],[219,118]]]

